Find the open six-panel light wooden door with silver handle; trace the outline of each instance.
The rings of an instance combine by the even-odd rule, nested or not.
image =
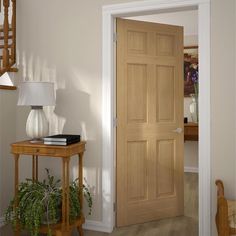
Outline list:
[[[117,226],[182,215],[183,28],[117,19]]]

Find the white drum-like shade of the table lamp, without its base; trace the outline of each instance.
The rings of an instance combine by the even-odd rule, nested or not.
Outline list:
[[[23,82],[19,86],[18,106],[55,105],[54,83]]]

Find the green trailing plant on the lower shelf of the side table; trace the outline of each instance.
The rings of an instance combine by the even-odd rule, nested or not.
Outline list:
[[[17,223],[21,228],[26,229],[32,236],[39,234],[42,224],[48,226],[48,236],[52,235],[50,225],[61,219],[62,189],[60,180],[55,180],[49,170],[46,169],[47,179],[32,181],[27,179],[19,186],[18,198],[14,198],[5,213],[6,223],[11,223],[15,228]],[[88,187],[78,187],[78,179],[70,184],[70,221],[73,222],[81,215],[79,194],[83,191],[88,203],[89,214],[92,210],[92,197]],[[18,202],[17,207],[16,201]]]

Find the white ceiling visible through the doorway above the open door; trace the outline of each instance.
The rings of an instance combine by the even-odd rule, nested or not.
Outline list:
[[[185,36],[198,35],[197,10],[126,17],[126,19],[183,26]]]

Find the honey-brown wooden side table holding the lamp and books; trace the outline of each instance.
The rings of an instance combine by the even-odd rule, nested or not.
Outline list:
[[[52,234],[56,236],[69,236],[74,227],[78,229],[80,236],[83,236],[82,224],[85,222],[83,213],[73,223],[69,221],[69,178],[70,178],[70,159],[78,156],[78,178],[79,187],[83,188],[83,154],[85,142],[79,142],[68,146],[49,146],[43,143],[30,143],[29,141],[17,142],[11,145],[12,154],[15,157],[15,196],[19,188],[19,159],[21,155],[28,155],[32,158],[32,179],[38,180],[38,159],[39,157],[54,157],[62,160],[62,221],[52,225]],[[83,193],[80,192],[81,210],[83,205]],[[20,227],[17,227],[15,235],[20,235]],[[47,226],[40,228],[41,233],[47,233]]]

